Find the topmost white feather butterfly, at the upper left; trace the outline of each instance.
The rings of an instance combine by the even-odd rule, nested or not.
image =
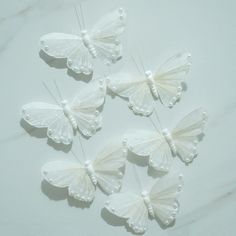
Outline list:
[[[74,72],[91,74],[92,59],[99,58],[110,64],[121,58],[122,45],[118,37],[124,31],[125,19],[125,10],[119,8],[105,15],[92,30],[81,29],[79,35],[43,35],[40,38],[41,49],[54,58],[66,58],[67,67]]]

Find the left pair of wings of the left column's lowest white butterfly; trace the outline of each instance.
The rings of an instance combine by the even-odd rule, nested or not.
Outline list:
[[[52,161],[42,167],[42,176],[51,185],[68,187],[69,195],[80,201],[91,202],[95,186],[84,167],[71,161]]]

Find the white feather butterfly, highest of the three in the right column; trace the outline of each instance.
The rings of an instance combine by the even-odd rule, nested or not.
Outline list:
[[[171,108],[181,97],[183,77],[191,65],[190,57],[189,53],[178,53],[155,73],[146,70],[141,75],[112,75],[108,87],[119,96],[128,98],[129,107],[136,114],[149,116],[156,99]]]

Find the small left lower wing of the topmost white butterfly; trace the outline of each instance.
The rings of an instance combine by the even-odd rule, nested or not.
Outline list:
[[[67,67],[78,74],[89,75],[93,72],[92,56],[83,44],[68,56]]]

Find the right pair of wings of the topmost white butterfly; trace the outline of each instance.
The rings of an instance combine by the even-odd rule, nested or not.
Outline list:
[[[118,37],[124,31],[125,20],[124,9],[117,9],[99,20],[90,33],[92,45],[98,56],[108,63],[115,63],[121,57],[122,45]]]

